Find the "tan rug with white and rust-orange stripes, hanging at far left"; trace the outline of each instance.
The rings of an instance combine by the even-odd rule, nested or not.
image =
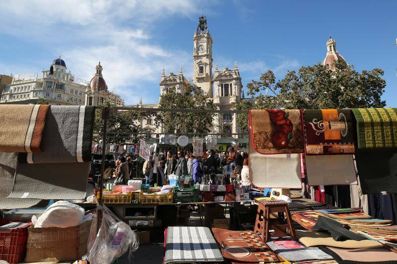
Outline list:
[[[0,106],[0,152],[40,153],[49,105]]]

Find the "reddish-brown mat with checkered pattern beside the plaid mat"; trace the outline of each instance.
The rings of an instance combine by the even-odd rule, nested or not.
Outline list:
[[[253,231],[231,231],[212,228],[216,242],[221,246],[222,255],[230,261],[249,263],[279,262],[261,238]]]

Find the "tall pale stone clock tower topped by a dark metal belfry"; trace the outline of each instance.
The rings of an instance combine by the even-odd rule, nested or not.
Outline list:
[[[199,18],[199,25],[193,36],[193,60],[193,83],[208,93],[208,98],[213,98],[212,37],[209,34],[205,16]]]

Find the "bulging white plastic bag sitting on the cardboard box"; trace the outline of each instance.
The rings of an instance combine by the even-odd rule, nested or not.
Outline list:
[[[58,201],[49,206],[35,221],[34,227],[70,227],[83,222],[84,209],[67,201]],[[33,221],[34,219],[32,219]]]

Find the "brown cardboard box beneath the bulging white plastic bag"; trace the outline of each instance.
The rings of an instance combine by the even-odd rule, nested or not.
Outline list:
[[[66,228],[28,229],[26,262],[80,260],[87,253],[87,240],[92,221]]]

